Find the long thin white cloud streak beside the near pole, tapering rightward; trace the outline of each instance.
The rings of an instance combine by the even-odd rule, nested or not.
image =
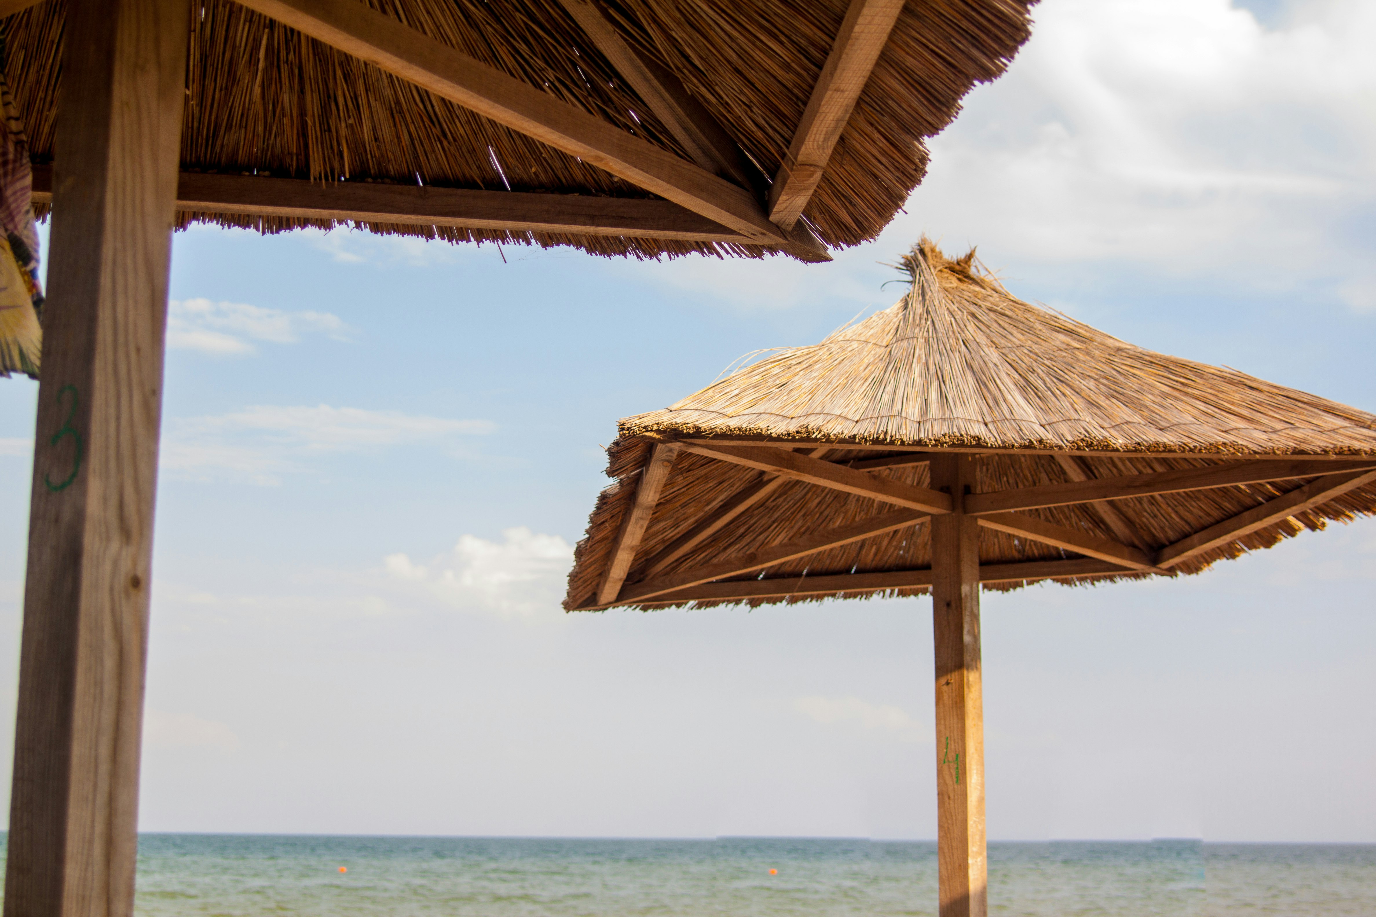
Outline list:
[[[162,469],[191,477],[242,477],[277,484],[322,455],[407,443],[444,443],[488,433],[490,421],[462,421],[356,407],[255,406],[231,414],[172,418]]]

